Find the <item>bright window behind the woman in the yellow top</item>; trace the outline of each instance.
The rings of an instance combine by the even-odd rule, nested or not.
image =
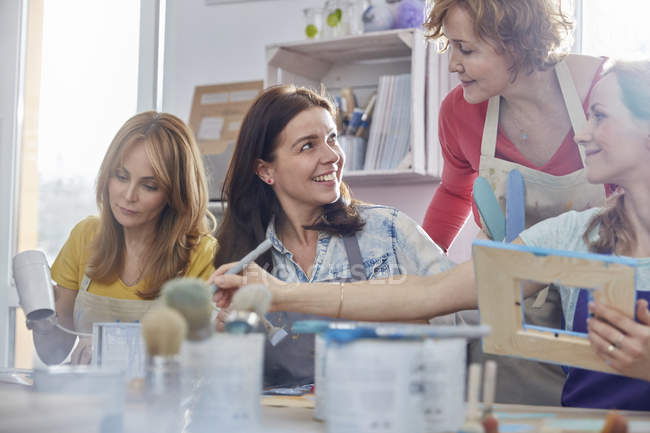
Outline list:
[[[42,249],[51,264],[74,225],[97,214],[95,178],[111,139],[126,119],[155,105],[147,95],[158,84],[161,1],[25,2],[16,251]],[[15,325],[15,365],[31,367],[19,310]]]

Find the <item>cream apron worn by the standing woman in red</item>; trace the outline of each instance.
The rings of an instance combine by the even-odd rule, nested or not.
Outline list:
[[[566,63],[558,63],[555,66],[555,73],[573,130],[580,131],[587,119]],[[580,146],[578,147],[583,168],[564,176],[543,173],[495,157],[500,100],[499,96],[494,96],[488,103],[481,143],[479,175],[485,177],[492,186],[504,215],[507,178],[508,173],[513,169],[521,172],[526,184],[526,228],[568,210],[581,211],[602,205],[605,201],[605,188],[603,185],[593,185],[587,181],[584,149]],[[485,224],[483,223],[482,226],[485,231]],[[527,299],[524,304],[527,323],[552,328],[561,327],[562,307],[557,290],[546,288],[540,292],[536,300]],[[484,361],[486,358],[494,359],[499,364],[496,396],[498,402],[560,405],[565,375],[559,366],[484,355],[481,353],[480,344],[470,344],[472,362]]]

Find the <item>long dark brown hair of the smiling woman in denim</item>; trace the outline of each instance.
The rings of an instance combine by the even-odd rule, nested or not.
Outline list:
[[[283,214],[273,189],[256,175],[256,161],[272,162],[278,137],[287,124],[301,112],[321,107],[336,117],[333,104],[314,91],[293,85],[269,87],[255,100],[241,125],[237,145],[228,167],[222,190],[227,202],[217,239],[219,251],[214,266],[239,260],[266,237],[266,228],[273,216]],[[347,235],[361,230],[364,222],[348,187],[341,182],[341,196],[323,206],[323,214],[311,230]],[[273,262],[267,253],[257,263],[271,270]]]

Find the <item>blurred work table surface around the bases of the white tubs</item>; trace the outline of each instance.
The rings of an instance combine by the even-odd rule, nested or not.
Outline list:
[[[36,393],[22,385],[0,384],[0,432],[99,433],[96,421],[103,407],[88,396]],[[494,407],[502,431],[594,433],[602,428],[606,411],[543,406],[500,405]],[[127,404],[125,433],[142,433],[137,405]],[[650,412],[621,412],[630,424],[629,433],[650,432]],[[260,431],[322,433],[325,423],[313,418],[313,398],[263,397]],[[139,427],[140,426],[140,427]],[[523,426],[523,427],[522,427]],[[530,426],[530,429],[525,429]],[[522,430],[523,428],[523,430]]]

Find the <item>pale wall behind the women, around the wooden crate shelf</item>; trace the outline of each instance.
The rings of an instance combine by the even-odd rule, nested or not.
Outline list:
[[[188,120],[194,86],[262,80],[266,45],[304,39],[302,10],[324,0],[252,1],[206,6],[204,0],[167,0],[163,109]],[[417,222],[436,185],[357,186],[354,196],[395,206]],[[450,250],[469,255],[472,229]]]

